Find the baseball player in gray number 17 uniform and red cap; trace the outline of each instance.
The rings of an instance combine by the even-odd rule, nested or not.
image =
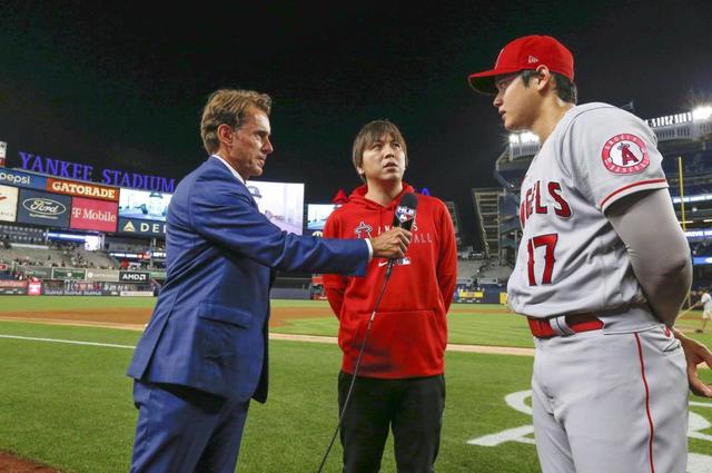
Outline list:
[[[712,397],[696,375],[712,353],[672,328],[692,278],[688,243],[655,135],[613,106],[576,106],[573,79],[573,56],[546,36],[510,42],[492,70],[469,76],[507,130],[541,141],[507,285],[535,337],[540,463],[544,473],[684,473],[688,383]]]

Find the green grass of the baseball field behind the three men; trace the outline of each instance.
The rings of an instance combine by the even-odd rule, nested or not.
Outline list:
[[[144,298],[0,297],[0,312],[150,306]],[[275,300],[273,306],[313,306],[312,302]],[[484,308],[485,312],[478,312]],[[523,321],[492,314],[481,306],[454,306],[451,342],[532,346]],[[683,321],[694,326],[699,314]],[[712,327],[711,327],[712,328]],[[295,319],[277,327],[285,333],[335,335],[332,318]],[[0,450],[17,453],[67,473],[128,471],[136,410],[131,381],[125,376],[139,333],[131,331],[0,322]],[[28,338],[81,341],[115,346],[75,345]],[[710,343],[709,335],[703,337]],[[253,404],[239,461],[240,472],[316,471],[336,427],[336,375],[340,352],[335,345],[271,342],[270,398]],[[507,406],[505,396],[526,392],[532,358],[527,356],[448,353],[447,403],[437,471],[443,473],[537,472],[528,440],[494,446],[477,438],[531,425],[531,417]],[[712,382],[712,373],[703,371]],[[712,471],[712,401],[691,398],[690,473]],[[475,440],[475,444],[467,443]],[[482,443],[482,442],[479,442]],[[390,445],[384,472],[395,472]],[[336,443],[327,463],[339,471]],[[698,462],[698,463],[693,463]]]

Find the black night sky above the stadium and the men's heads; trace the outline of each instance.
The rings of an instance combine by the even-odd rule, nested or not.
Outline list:
[[[408,145],[405,180],[455,200],[477,244],[469,189],[497,186],[506,134],[466,77],[510,40],[566,45],[580,102],[633,101],[651,118],[712,101],[709,0],[102,3],[0,7],[8,166],[27,151],[178,181],[206,157],[207,96],[256,89],[274,99],[263,180],[306,183],[305,203],[350,191],[356,132],[388,118]]]

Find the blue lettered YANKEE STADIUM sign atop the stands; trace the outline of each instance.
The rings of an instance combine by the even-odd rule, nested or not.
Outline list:
[[[90,165],[46,158],[24,151],[19,151],[19,154],[22,160],[22,169],[34,173],[49,174],[68,179],[95,180],[117,187],[132,187],[135,189],[157,190],[159,193],[172,193],[176,188],[175,179],[167,179],[160,176],[127,173],[120,169],[101,169],[96,173],[97,176],[95,177],[95,168]]]

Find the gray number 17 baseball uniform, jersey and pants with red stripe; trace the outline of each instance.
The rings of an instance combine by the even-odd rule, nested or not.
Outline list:
[[[626,196],[668,187],[661,161],[642,120],[587,104],[558,121],[522,183],[510,306],[556,317],[552,327],[563,334],[565,314],[604,323],[535,339],[532,407],[545,473],[685,471],[684,355],[653,315],[606,217]]]

